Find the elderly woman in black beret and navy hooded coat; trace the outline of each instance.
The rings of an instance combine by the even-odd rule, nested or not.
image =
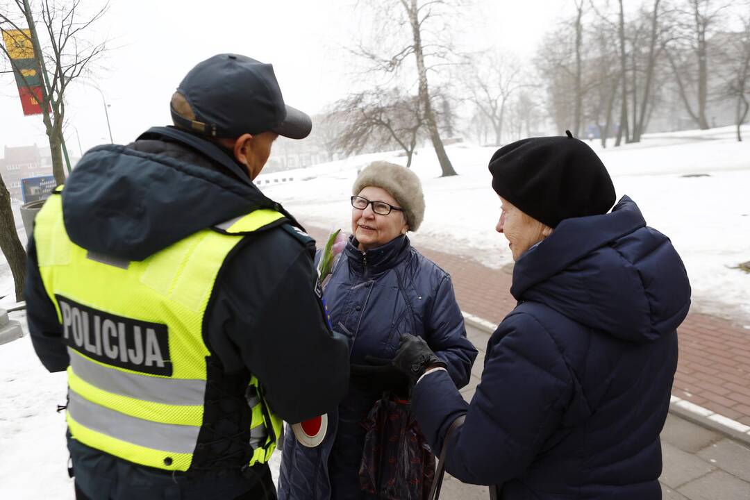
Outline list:
[[[422,340],[402,337],[395,365],[418,381],[428,442],[446,447],[450,474],[502,499],[661,499],[659,433],[690,307],[682,261],[628,196],[609,211],[607,170],[569,133],[500,148],[490,172],[518,305],[471,403]]]

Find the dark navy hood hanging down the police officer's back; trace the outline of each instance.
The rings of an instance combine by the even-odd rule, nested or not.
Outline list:
[[[154,130],[159,128],[149,132]],[[201,142],[214,154],[224,154]],[[138,144],[91,149],[65,183],[65,229],[80,247],[139,261],[200,229],[258,208],[282,210],[249,178],[238,181],[220,168],[202,166],[208,160],[191,148],[163,142],[165,150],[181,148],[177,159],[138,151]],[[189,161],[190,156],[196,161]]]

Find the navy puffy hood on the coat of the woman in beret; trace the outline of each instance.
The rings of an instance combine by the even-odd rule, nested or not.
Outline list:
[[[621,340],[646,343],[687,316],[690,283],[666,236],[628,196],[610,214],[563,220],[516,262],[511,293]]]

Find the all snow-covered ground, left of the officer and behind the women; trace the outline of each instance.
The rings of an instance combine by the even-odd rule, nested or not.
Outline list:
[[[745,127],[750,139],[750,127]],[[750,142],[738,143],[733,129],[695,130],[646,136],[642,143],[602,151],[592,144],[618,196],[640,205],[646,222],[672,238],[682,255],[694,292],[694,310],[750,325],[750,274],[736,269],[750,260]],[[429,149],[415,157],[427,212],[413,235],[417,244],[465,253],[486,265],[511,262],[505,238],[494,232],[499,202],[490,188],[487,161],[495,148],[452,145],[448,152],[458,177],[438,178]],[[262,189],[302,221],[324,228],[350,227],[350,187],[357,169],[375,159],[404,162],[395,154],[371,154],[297,172],[287,184]],[[707,174],[706,177],[681,177]],[[17,206],[15,207],[17,211]],[[17,213],[21,240],[26,242]],[[0,255],[0,305],[13,295],[13,281]],[[11,314],[23,322],[23,312]],[[64,373],[49,374],[28,337],[0,346],[0,499],[74,498],[68,479]],[[273,469],[278,469],[275,454]]]

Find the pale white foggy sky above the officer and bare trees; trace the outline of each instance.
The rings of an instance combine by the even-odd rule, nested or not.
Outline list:
[[[84,2],[89,8],[100,0]],[[544,32],[572,2],[473,0],[455,20],[463,49],[496,47],[530,58]],[[567,5],[567,7],[565,7]],[[568,10],[566,10],[568,8]],[[92,81],[110,105],[115,143],[127,143],[170,122],[169,97],[187,70],[219,52],[274,64],[284,100],[308,113],[353,89],[353,46],[371,19],[348,0],[177,1],[113,0],[90,37],[108,38],[110,52]],[[68,151],[109,142],[101,95],[71,85]],[[0,74],[0,146],[46,146],[40,116],[24,117],[10,74]],[[0,151],[0,154],[1,151]]]

